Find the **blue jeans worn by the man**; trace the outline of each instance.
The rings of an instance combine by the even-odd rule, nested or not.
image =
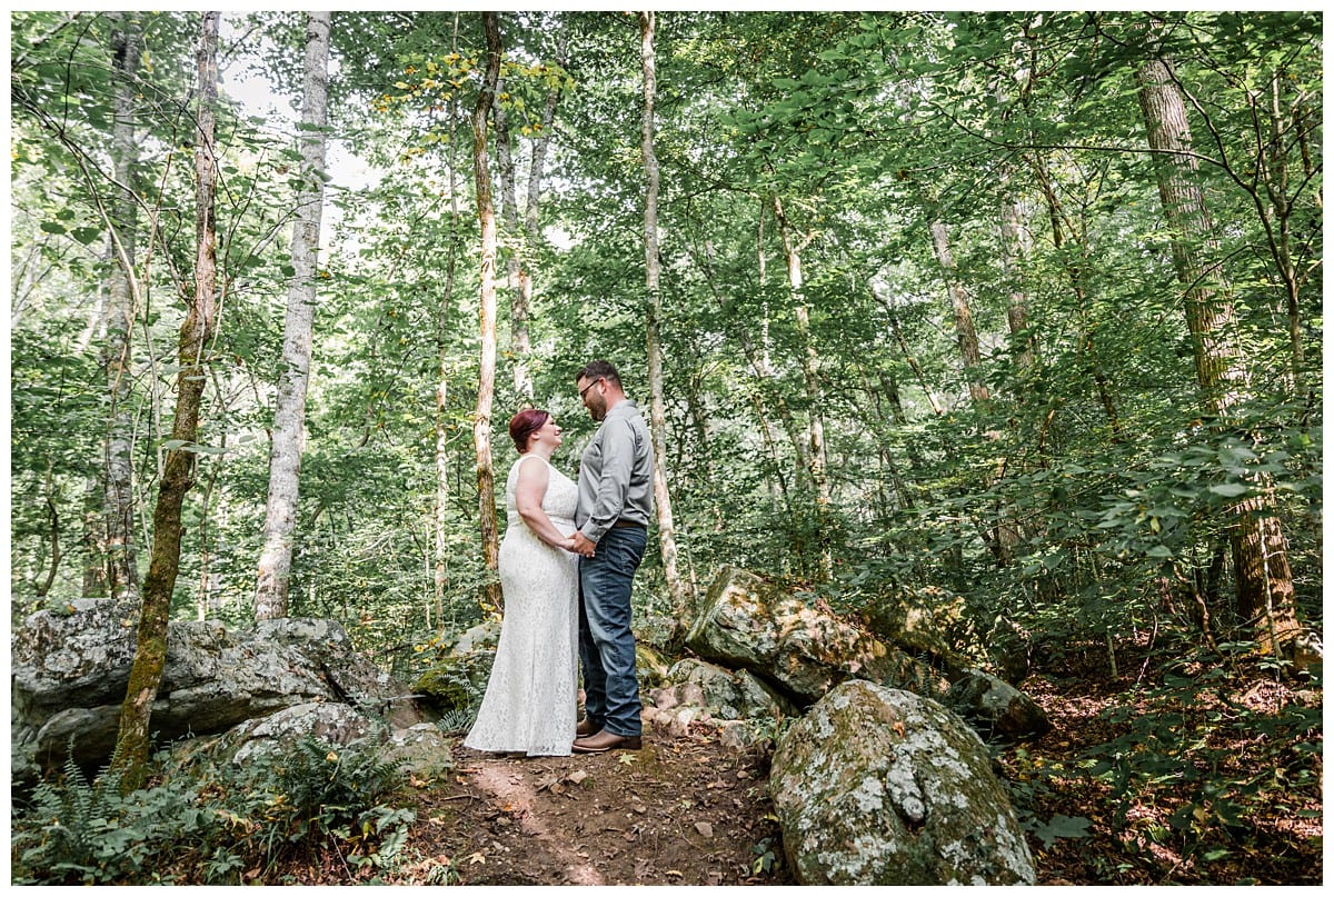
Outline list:
[[[635,634],[630,630],[630,586],[644,558],[648,530],[612,527],[592,558],[579,558],[579,662],[584,714],[616,735],[643,731]]]

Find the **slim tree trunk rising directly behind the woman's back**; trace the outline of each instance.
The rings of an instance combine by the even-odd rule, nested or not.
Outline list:
[[[483,587],[486,610],[499,610],[500,543],[496,526],[495,470],[491,461],[491,403],[496,388],[496,215],[491,202],[491,172],[487,166],[487,117],[495,101],[500,77],[500,25],[496,13],[483,12],[487,32],[487,72],[472,111],[472,168],[476,175],[478,222],[482,227],[482,358],[478,371],[478,407],[472,423],[472,447],[478,457],[478,519],[482,527],[482,555],[491,571]]]

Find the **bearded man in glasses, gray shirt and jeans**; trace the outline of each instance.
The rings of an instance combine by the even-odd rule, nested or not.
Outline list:
[[[575,376],[579,398],[602,426],[579,463],[575,553],[579,559],[579,662],[584,719],[575,753],[639,750],[642,725],[630,586],[644,557],[654,510],[648,427],[610,362]]]

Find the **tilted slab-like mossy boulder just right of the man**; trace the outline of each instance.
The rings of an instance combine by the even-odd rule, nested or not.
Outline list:
[[[710,586],[686,645],[750,670],[803,706],[854,677],[930,695],[946,687],[924,663],[736,567],[724,567]]]

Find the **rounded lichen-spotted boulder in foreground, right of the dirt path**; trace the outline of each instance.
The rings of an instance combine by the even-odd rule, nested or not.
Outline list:
[[[986,746],[948,709],[848,681],[782,738],[770,796],[803,885],[1017,885],[1037,874]]]

